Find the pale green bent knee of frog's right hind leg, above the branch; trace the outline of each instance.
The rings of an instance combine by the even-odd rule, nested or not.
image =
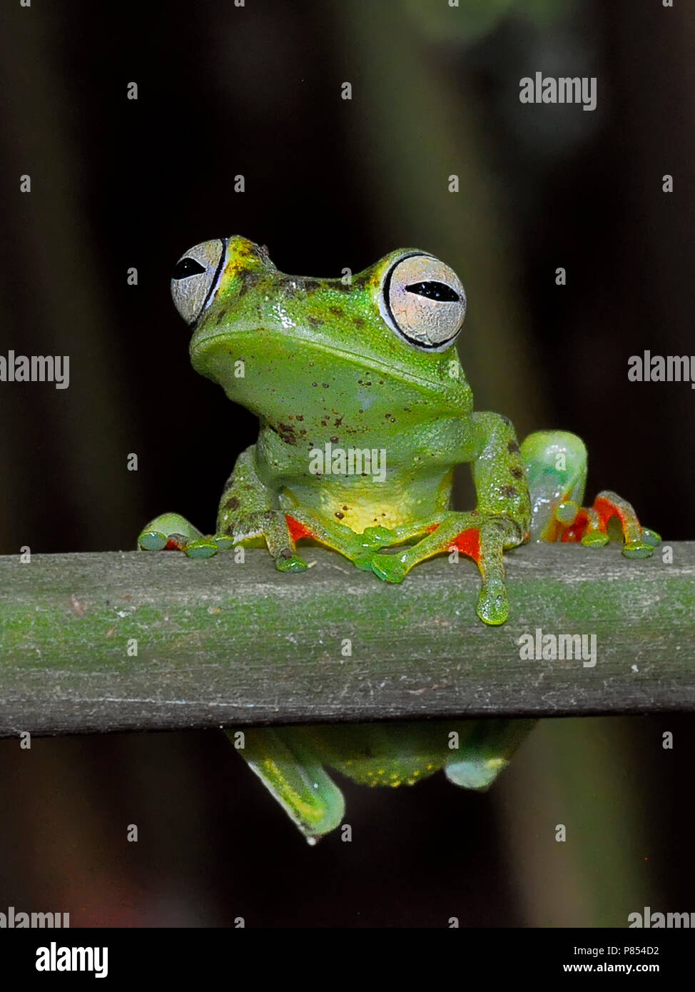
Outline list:
[[[584,499],[584,441],[567,431],[538,431],[528,434],[521,444],[521,457],[531,499],[530,539],[555,541],[562,530],[563,522],[558,520],[562,504],[574,504],[576,509]]]

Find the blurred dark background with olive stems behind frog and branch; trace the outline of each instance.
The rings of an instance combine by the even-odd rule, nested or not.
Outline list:
[[[7,5],[0,353],[69,354],[70,385],[0,384],[0,552],[133,548],[169,509],[213,527],[256,424],[192,372],[169,280],[186,248],[235,233],[302,275],[402,245],[442,258],[468,294],[477,408],[520,436],[580,434],[591,498],[616,489],[692,540],[695,396],[627,370],[645,348],[695,351],[694,41],[695,10],[655,0]],[[536,69],[597,76],[596,111],[521,104]],[[315,849],[216,732],[3,741],[0,911],[72,926],[689,912],[694,726],[545,721],[486,796],[443,777],[348,783],[355,839]]]

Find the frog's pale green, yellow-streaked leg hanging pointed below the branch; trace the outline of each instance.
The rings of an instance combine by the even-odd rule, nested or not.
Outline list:
[[[234,741],[234,731],[227,734]],[[245,730],[239,754],[310,843],[339,826],[345,813],[343,794],[295,728]]]

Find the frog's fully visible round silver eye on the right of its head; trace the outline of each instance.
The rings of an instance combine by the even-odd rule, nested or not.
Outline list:
[[[448,265],[416,252],[387,272],[379,306],[386,322],[410,344],[444,351],[461,330],[466,293]]]

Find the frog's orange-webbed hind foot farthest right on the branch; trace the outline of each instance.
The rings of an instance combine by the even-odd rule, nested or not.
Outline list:
[[[654,531],[641,526],[627,500],[608,490],[600,492],[590,507],[581,507],[570,500],[561,503],[555,516],[562,527],[560,541],[580,541],[590,548],[607,545],[611,530],[615,529],[625,542],[626,558],[649,558],[661,540]]]

